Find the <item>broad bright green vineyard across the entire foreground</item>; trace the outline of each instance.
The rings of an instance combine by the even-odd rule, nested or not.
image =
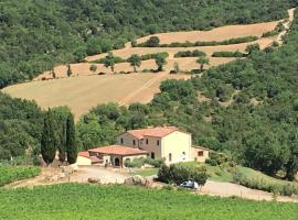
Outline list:
[[[297,219],[296,204],[256,202],[128,186],[0,190],[0,219]]]

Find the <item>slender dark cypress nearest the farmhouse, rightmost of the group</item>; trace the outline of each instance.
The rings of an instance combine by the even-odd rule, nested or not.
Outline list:
[[[75,124],[74,117],[70,113],[66,123],[66,153],[67,162],[74,164],[77,157],[77,148],[75,143]]]

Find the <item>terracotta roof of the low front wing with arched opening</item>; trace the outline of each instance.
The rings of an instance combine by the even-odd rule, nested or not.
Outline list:
[[[108,155],[121,155],[121,156],[148,154],[148,152],[141,151],[139,148],[132,148],[132,147],[120,146],[120,145],[110,145],[110,146],[91,148],[89,152],[99,153],[99,154],[108,154]]]

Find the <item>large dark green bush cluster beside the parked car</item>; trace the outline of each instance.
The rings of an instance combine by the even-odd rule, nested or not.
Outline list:
[[[187,180],[194,180],[200,186],[206,183],[207,175],[206,168],[194,167],[185,164],[172,164],[170,166],[162,165],[158,172],[158,179],[167,184],[180,185]]]

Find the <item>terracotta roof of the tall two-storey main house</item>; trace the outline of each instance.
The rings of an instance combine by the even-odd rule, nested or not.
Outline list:
[[[143,139],[143,136],[163,138],[174,131],[178,131],[175,127],[157,127],[157,128],[150,128],[150,129],[129,130],[127,131],[127,133],[140,140],[140,139]]]

